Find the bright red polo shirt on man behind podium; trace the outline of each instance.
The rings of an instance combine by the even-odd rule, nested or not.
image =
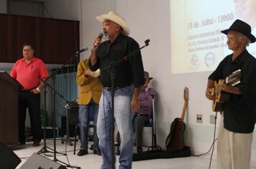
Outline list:
[[[40,85],[40,78],[48,76],[45,63],[36,57],[29,64],[25,64],[24,57],[19,59],[12,67],[11,77],[22,84],[24,90],[31,90]]]

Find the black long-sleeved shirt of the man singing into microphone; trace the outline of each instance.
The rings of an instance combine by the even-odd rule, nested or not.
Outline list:
[[[127,60],[119,62],[114,67],[114,87],[125,87],[130,84],[134,84],[134,87],[140,87],[145,83],[145,79],[142,55],[139,49],[139,44],[134,39],[119,34],[112,44],[109,40],[101,43],[96,52],[96,64],[92,67],[91,62],[89,62],[88,66],[92,71],[100,68],[101,83],[104,87],[111,87],[111,74],[106,67],[127,57]],[[131,54],[132,52],[134,53]],[[104,71],[104,69],[106,70]]]

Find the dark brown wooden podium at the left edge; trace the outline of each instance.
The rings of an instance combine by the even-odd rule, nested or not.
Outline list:
[[[18,92],[22,89],[16,79],[0,71],[0,141],[6,145],[18,144]]]

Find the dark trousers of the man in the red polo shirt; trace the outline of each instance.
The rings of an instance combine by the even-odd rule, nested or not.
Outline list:
[[[19,143],[25,142],[24,132],[27,108],[29,110],[33,141],[40,142],[42,138],[40,94],[19,91]]]

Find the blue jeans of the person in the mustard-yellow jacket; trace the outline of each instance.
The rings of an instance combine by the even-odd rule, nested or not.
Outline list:
[[[98,150],[99,149],[99,138],[97,136],[97,120],[98,120],[98,112],[99,112],[99,104],[96,104],[92,99],[88,103],[88,105],[79,105],[79,122],[81,124],[80,131],[81,131],[81,150],[87,150],[88,149],[88,125],[90,122],[89,118],[89,112],[90,107],[93,108],[93,149]]]

